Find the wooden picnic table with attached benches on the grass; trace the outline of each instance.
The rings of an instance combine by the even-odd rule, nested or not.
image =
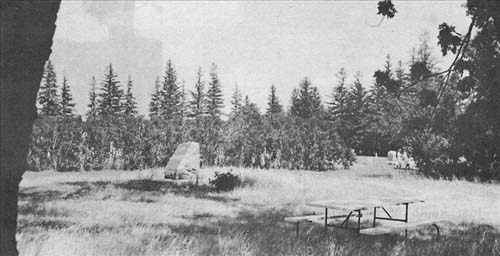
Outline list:
[[[296,217],[286,217],[286,222],[296,224],[296,233],[299,234],[299,224],[304,222],[324,224],[325,232],[328,227],[337,227],[342,229],[355,230],[364,235],[382,235],[387,233],[394,233],[398,231],[405,231],[405,238],[408,230],[413,230],[422,226],[433,226],[436,228],[437,239],[439,240],[440,232],[438,224],[442,220],[423,220],[419,222],[408,222],[408,206],[413,203],[424,202],[416,198],[370,198],[364,200],[324,200],[306,203],[307,206],[324,208],[324,214],[313,214]],[[403,205],[405,208],[404,218],[395,218],[385,207]],[[328,210],[340,210],[345,214],[328,215]],[[363,217],[362,211],[373,209],[373,227],[361,228],[361,218]],[[383,215],[377,215],[377,209],[383,211]],[[354,226],[349,226],[351,218],[357,218]],[[338,221],[340,220],[340,222]],[[397,226],[377,226],[377,220],[402,222]]]

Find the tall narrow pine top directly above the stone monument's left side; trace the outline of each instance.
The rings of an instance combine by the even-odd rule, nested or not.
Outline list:
[[[172,60],[167,61],[165,76],[163,77],[160,113],[164,119],[174,119],[181,115],[181,92],[177,84],[177,74]]]

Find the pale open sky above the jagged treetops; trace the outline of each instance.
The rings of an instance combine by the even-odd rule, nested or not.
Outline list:
[[[102,81],[112,63],[123,85],[129,76],[133,80],[139,112],[147,115],[154,81],[168,59],[187,91],[194,88],[198,67],[208,80],[215,63],[226,112],[236,84],[265,111],[271,85],[288,106],[305,76],[327,102],[341,67],[349,83],[359,71],[369,87],[387,54],[394,64],[407,64],[425,34],[437,66],[451,63],[437,45],[438,25],[447,22],[466,32],[465,1],[393,3],[396,16],[378,25],[377,1],[63,0],[51,60],[59,81],[63,74],[68,78],[79,114],[87,110],[92,76]]]

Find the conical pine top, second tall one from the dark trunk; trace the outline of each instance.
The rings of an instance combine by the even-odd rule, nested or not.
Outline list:
[[[98,99],[98,112],[103,116],[123,113],[123,89],[116,80],[117,76],[112,64],[109,64]]]

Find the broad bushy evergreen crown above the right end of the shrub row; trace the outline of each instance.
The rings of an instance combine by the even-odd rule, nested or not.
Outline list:
[[[312,86],[307,77],[302,80],[299,88],[293,90],[291,101],[290,113],[301,118],[318,116],[323,110],[318,88]]]

